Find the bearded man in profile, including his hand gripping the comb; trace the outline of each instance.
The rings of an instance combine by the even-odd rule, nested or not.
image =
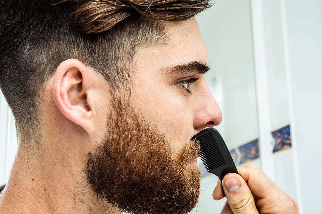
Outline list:
[[[19,147],[1,213],[188,213],[198,143],[222,114],[194,16],[208,1],[1,3],[1,90]],[[296,213],[260,169],[223,179],[224,213]],[[223,198],[221,183],[213,198]]]

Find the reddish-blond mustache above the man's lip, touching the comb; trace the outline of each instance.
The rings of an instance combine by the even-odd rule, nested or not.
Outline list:
[[[200,144],[197,140],[190,140],[186,143],[179,151],[177,160],[181,163],[188,163],[190,160],[195,158],[200,151]]]

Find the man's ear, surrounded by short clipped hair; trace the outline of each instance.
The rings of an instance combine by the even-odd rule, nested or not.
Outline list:
[[[67,59],[56,69],[53,97],[62,114],[80,125],[87,133],[93,133],[93,111],[89,86],[90,70],[77,59]]]

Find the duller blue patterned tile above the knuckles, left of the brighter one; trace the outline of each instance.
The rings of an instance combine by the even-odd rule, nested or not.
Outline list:
[[[259,158],[260,155],[258,148],[258,139],[238,147],[238,150],[241,153],[241,160],[239,164],[243,164],[256,158]]]

